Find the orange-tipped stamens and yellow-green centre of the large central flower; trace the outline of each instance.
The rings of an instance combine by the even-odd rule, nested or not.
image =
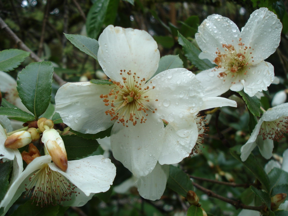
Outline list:
[[[111,120],[118,120],[118,123],[121,122],[126,127],[129,121],[133,122],[133,125],[136,125],[137,121],[145,123],[149,111],[155,113],[157,110],[149,104],[147,93],[151,88],[146,84],[145,78],[140,79],[136,73],[120,70],[120,75],[122,81],[112,81],[114,88],[108,94],[100,95],[105,105],[111,106],[105,111],[106,115],[110,115]],[[154,88],[155,86],[152,87]]]

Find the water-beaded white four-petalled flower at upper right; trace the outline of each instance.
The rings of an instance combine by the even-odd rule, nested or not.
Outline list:
[[[229,18],[208,16],[195,39],[207,58],[217,66],[196,75],[211,95],[244,88],[249,96],[267,90],[274,80],[274,67],[265,62],[279,46],[282,24],[267,8],[255,10],[240,32]]]

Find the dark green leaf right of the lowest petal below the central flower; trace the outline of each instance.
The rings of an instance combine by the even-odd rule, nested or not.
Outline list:
[[[170,165],[167,186],[184,197],[187,196],[189,190],[194,189],[189,176],[178,167],[172,165]]]

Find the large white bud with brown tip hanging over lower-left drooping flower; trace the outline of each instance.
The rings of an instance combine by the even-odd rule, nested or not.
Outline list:
[[[64,142],[55,129],[45,130],[41,141],[44,143],[54,164],[62,171],[68,168],[68,160]]]

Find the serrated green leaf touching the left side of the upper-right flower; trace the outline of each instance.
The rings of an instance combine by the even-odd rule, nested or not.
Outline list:
[[[195,67],[197,67],[199,70],[206,70],[209,68],[215,67],[214,64],[212,64],[208,59],[200,59],[198,56],[200,54],[200,50],[196,48],[196,46],[193,45],[190,41],[188,41],[183,35],[178,33],[178,42],[183,47],[183,51],[185,56],[192,62]]]

